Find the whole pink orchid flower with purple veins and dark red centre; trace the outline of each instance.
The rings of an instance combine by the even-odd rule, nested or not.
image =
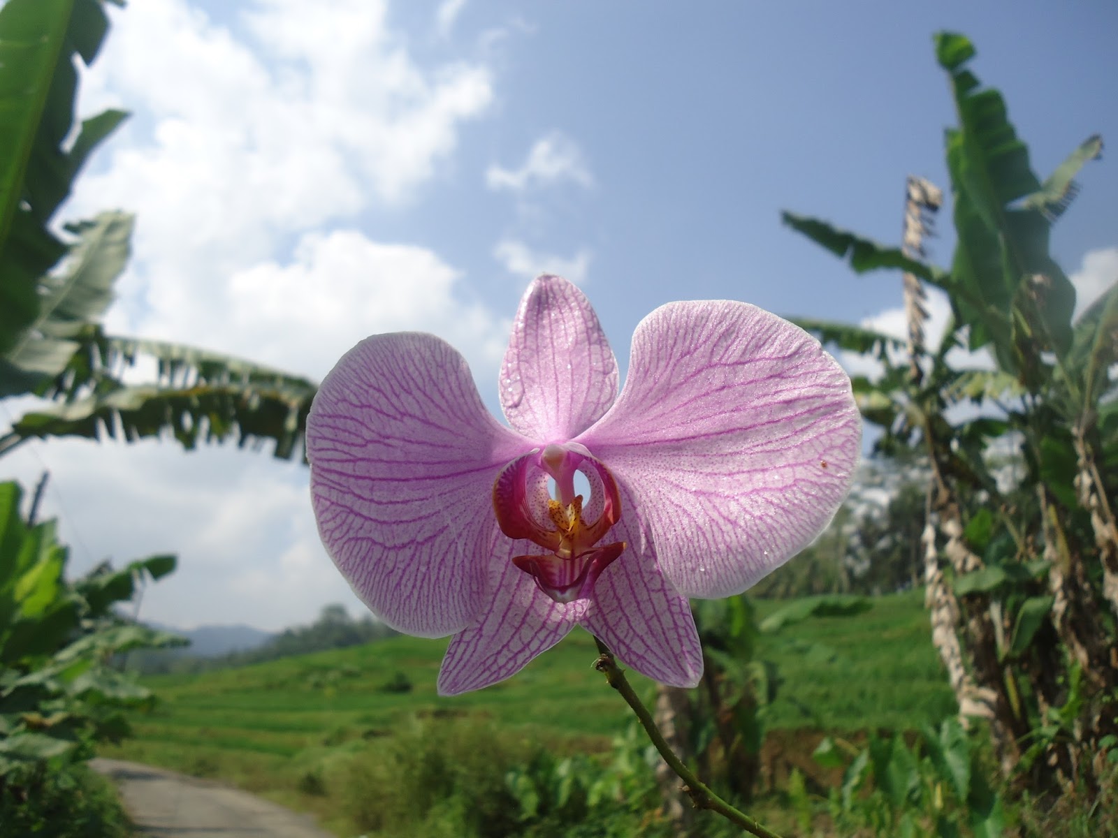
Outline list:
[[[386,623],[454,635],[439,693],[508,678],[576,625],[633,669],[695,686],[688,598],[746,590],[846,494],[850,379],[776,315],[662,306],[617,389],[597,315],[555,276],[517,313],[500,379],[511,427],[429,334],[373,335],[322,382],[306,422],[322,541]]]

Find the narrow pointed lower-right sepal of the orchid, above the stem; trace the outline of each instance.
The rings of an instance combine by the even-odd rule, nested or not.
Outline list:
[[[626,542],[625,552],[594,584],[582,626],[642,675],[662,684],[693,687],[702,677],[702,646],[691,603],[656,566],[652,540],[626,493],[622,520],[609,537]]]

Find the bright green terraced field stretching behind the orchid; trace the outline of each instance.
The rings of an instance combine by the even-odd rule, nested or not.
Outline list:
[[[760,617],[784,602],[760,602]],[[323,817],[344,834],[313,778],[383,746],[414,718],[465,716],[505,740],[559,753],[607,750],[628,707],[594,672],[594,641],[574,632],[515,677],[453,698],[435,694],[446,641],[397,637],[205,675],[144,680],[160,698],[133,720],[135,736],[104,755],[234,782]],[[882,597],[852,618],[817,618],[766,637],[779,667],[774,730],[906,729],[938,721],[954,702],[931,646],[920,592]],[[398,677],[410,692],[389,692]],[[651,695],[651,682],[633,676]],[[311,779],[309,779],[311,778]]]

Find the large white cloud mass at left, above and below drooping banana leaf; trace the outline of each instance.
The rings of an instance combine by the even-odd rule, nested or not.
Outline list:
[[[386,0],[247,9],[239,28],[187,0],[111,10],[80,103],[134,116],[64,210],[138,213],[108,327],[314,378],[371,333],[423,330],[495,381],[503,316],[432,249],[375,241],[356,220],[424,198],[492,101],[489,69],[420,66]],[[144,596],[151,619],[278,628],[354,602],[319,543],[297,464],[230,447],[54,440],[4,465],[25,485],[50,469],[45,514],[61,516],[75,572],[106,555],[180,554],[180,570]]]

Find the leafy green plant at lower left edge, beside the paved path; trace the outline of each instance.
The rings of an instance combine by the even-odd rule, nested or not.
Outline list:
[[[28,524],[19,503],[17,484],[0,484],[0,789],[9,793],[88,758],[94,742],[120,741],[125,711],[152,698],[113,657],[178,641],[113,611],[138,584],[170,573],[174,556],[103,564],[69,582],[55,522]]]

